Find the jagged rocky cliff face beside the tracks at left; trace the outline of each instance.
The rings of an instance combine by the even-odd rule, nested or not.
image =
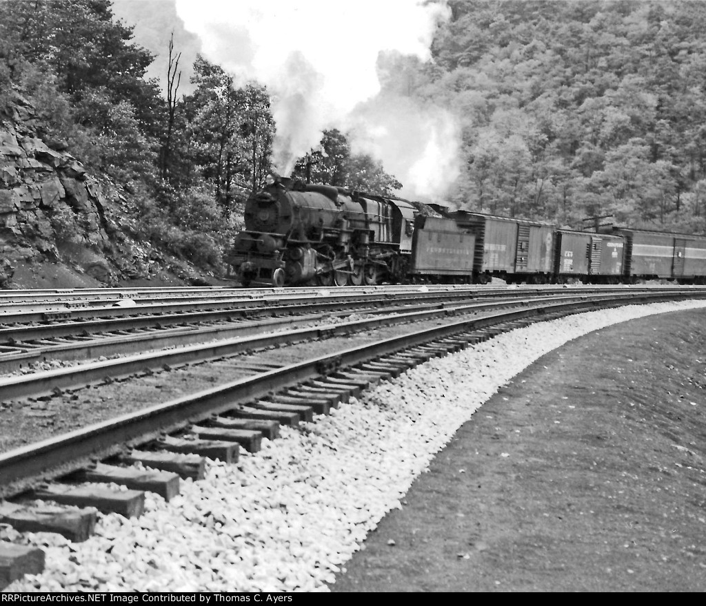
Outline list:
[[[128,197],[89,174],[65,141],[43,133],[21,95],[0,108],[0,287],[18,265],[63,264],[100,284],[193,270],[131,237],[136,213]],[[75,284],[66,284],[75,286]]]

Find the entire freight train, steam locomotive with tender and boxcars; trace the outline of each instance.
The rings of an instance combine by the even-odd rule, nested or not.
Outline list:
[[[385,282],[706,283],[706,236],[450,212],[400,198],[272,178],[246,202],[226,256],[243,286]]]

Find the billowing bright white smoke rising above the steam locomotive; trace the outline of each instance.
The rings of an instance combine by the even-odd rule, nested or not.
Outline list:
[[[436,26],[448,18],[445,3],[419,0],[177,0],[177,12],[186,29],[201,37],[210,61],[239,81],[267,85],[277,124],[274,162],[282,174],[289,174],[297,157],[318,145],[323,130],[349,124],[352,110],[380,92],[376,62],[381,52],[428,60]],[[394,138],[405,128],[387,128],[383,112],[374,125],[378,135],[366,131],[365,114],[357,113],[359,140],[353,143],[375,154],[386,171],[403,181],[415,163],[419,169],[448,150],[448,133],[437,132],[440,126],[452,130],[446,118],[426,114],[426,127],[417,124],[414,129],[422,138],[405,138],[404,168],[397,168],[400,163],[388,156],[397,146],[385,142],[381,133],[386,130],[388,138]],[[373,147],[363,147],[364,142]],[[429,173],[418,170],[417,181],[426,184],[414,185],[429,188],[430,177],[421,176]],[[412,186],[412,181],[405,185]]]

